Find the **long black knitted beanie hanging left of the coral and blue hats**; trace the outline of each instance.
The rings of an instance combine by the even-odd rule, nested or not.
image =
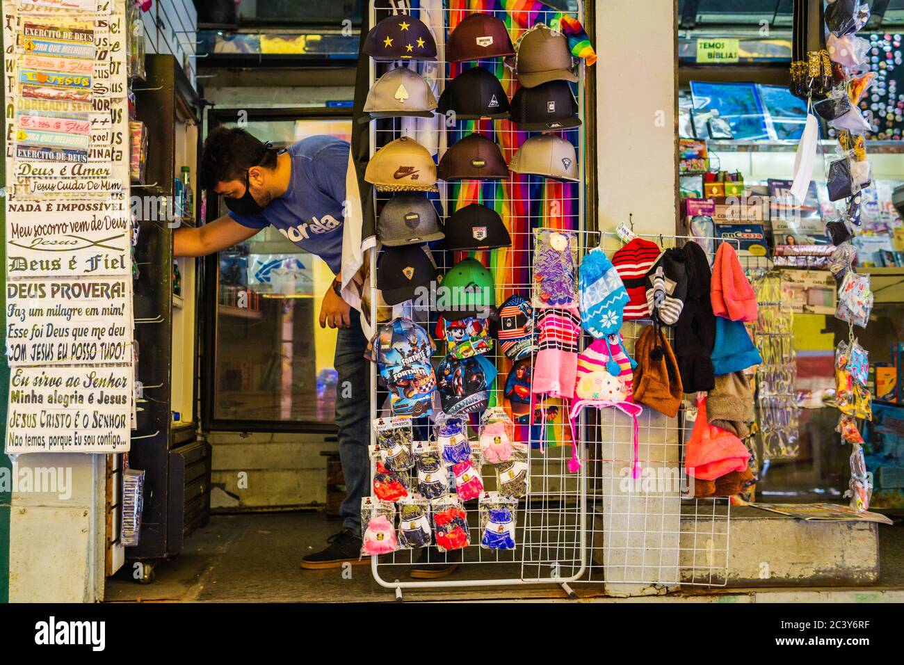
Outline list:
[[[685,393],[712,390],[712,345],[716,318],[710,302],[710,263],[696,242],[685,242],[687,298],[683,315],[674,326],[674,352]]]

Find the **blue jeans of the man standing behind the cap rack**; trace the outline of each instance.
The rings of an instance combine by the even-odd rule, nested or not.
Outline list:
[[[361,329],[361,314],[352,309],[352,325],[339,328],[334,367],[336,383],[336,427],[339,428],[339,460],[348,496],[339,507],[343,527],[361,536],[361,499],[371,493],[371,363],[364,359],[367,338]]]

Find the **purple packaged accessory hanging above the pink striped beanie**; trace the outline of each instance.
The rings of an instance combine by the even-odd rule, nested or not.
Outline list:
[[[574,233],[539,229],[534,235],[533,307],[578,306],[578,239]]]

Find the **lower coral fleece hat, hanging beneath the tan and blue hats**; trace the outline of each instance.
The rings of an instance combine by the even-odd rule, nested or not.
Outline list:
[[[684,470],[695,480],[716,480],[747,469],[750,451],[730,432],[706,420],[706,397],[697,401],[697,419],[684,451]]]

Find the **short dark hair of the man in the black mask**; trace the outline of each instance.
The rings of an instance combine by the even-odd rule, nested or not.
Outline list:
[[[204,141],[198,184],[202,189],[212,189],[217,183],[230,180],[244,182],[251,166],[276,168],[276,151],[267,150],[244,129],[215,128]]]

